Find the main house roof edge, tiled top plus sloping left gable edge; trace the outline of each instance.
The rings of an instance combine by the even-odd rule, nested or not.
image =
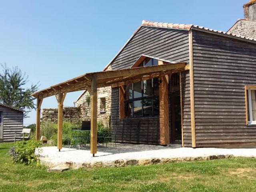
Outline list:
[[[254,0],[256,2],[256,0]],[[252,2],[250,2],[252,3]],[[110,60],[110,62],[103,68],[103,71],[105,71],[108,66],[114,61],[114,59],[120,54],[120,52],[124,49],[124,47],[130,42],[130,40],[133,38],[133,36],[138,32],[138,30],[142,26],[148,26],[148,27],[158,27],[158,28],[169,28],[169,29],[178,29],[178,30],[192,30],[192,29],[197,29],[201,30],[202,32],[212,32],[216,35],[225,35],[226,37],[230,38],[238,38],[240,40],[251,40],[256,43],[256,39],[253,38],[246,38],[244,36],[239,36],[236,34],[232,34],[230,32],[223,32],[220,30],[214,30],[210,29],[204,26],[198,26],[198,25],[193,25],[193,24],[178,24],[178,23],[163,23],[163,22],[154,22],[154,21],[147,21],[147,20],[142,20],[141,26],[139,26],[135,32],[132,34],[132,36],[128,39],[128,41],[124,44],[124,46],[118,51],[118,53]]]

